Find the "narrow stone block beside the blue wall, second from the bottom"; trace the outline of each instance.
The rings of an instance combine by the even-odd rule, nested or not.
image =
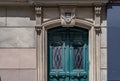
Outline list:
[[[101,68],[107,68],[107,49],[101,49]]]

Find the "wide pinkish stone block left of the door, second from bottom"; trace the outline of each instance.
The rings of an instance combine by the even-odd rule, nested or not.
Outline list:
[[[0,68],[36,68],[36,49],[0,49]]]

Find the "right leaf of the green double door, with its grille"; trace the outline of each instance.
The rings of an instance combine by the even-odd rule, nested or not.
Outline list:
[[[88,36],[87,31],[70,30],[70,76],[76,81],[86,77],[88,73],[86,70],[88,60],[86,54],[87,50],[85,49],[87,47],[86,42],[88,37],[85,35]]]

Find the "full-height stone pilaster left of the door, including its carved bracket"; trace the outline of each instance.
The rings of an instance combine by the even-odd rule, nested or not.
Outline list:
[[[36,11],[36,65],[37,65],[37,81],[43,81],[43,54],[42,54],[42,8],[35,7]]]

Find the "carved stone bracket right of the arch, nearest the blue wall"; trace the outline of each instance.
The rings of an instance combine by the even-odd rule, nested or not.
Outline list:
[[[101,33],[101,6],[95,6],[95,31]]]

